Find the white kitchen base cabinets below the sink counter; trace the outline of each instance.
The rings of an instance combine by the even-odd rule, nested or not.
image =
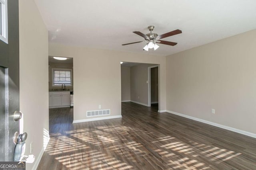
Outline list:
[[[50,108],[70,107],[70,92],[51,92],[51,94],[49,93]]]

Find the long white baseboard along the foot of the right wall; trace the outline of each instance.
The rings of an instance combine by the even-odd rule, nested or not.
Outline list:
[[[174,115],[186,117],[186,118],[188,118],[188,119],[192,119],[192,120],[195,120],[195,121],[200,121],[200,122],[206,123],[206,124],[208,124],[208,125],[220,127],[220,128],[222,128],[222,129],[226,129],[226,130],[233,131],[233,132],[236,132],[236,133],[240,133],[240,134],[242,134],[242,135],[246,135],[246,136],[249,136],[249,137],[256,138],[256,134],[255,134],[255,133],[250,133],[250,132],[243,131],[243,130],[240,130],[240,129],[236,129],[236,128],[233,128],[233,127],[228,127],[228,126],[225,126],[225,125],[220,125],[220,124],[218,124],[218,123],[214,123],[214,122],[211,122],[211,121],[206,121],[206,120],[204,120],[204,119],[198,119],[198,118],[196,118],[196,117],[184,115],[184,114],[177,113],[177,112],[174,112],[174,111],[166,110],[166,112],[167,112],[167,113],[172,113],[172,114],[174,114]]]

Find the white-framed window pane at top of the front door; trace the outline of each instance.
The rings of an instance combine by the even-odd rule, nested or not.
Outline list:
[[[0,40],[8,43],[7,0],[0,0]]]

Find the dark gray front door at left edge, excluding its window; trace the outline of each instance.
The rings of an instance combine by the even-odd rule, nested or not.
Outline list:
[[[0,161],[13,161],[14,133],[19,121],[19,11],[18,0],[8,1],[8,44],[0,40]]]

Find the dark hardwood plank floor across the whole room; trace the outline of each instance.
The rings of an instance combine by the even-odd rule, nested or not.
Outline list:
[[[253,170],[256,139],[122,103],[122,118],[72,124],[50,109],[50,141],[38,170]]]

